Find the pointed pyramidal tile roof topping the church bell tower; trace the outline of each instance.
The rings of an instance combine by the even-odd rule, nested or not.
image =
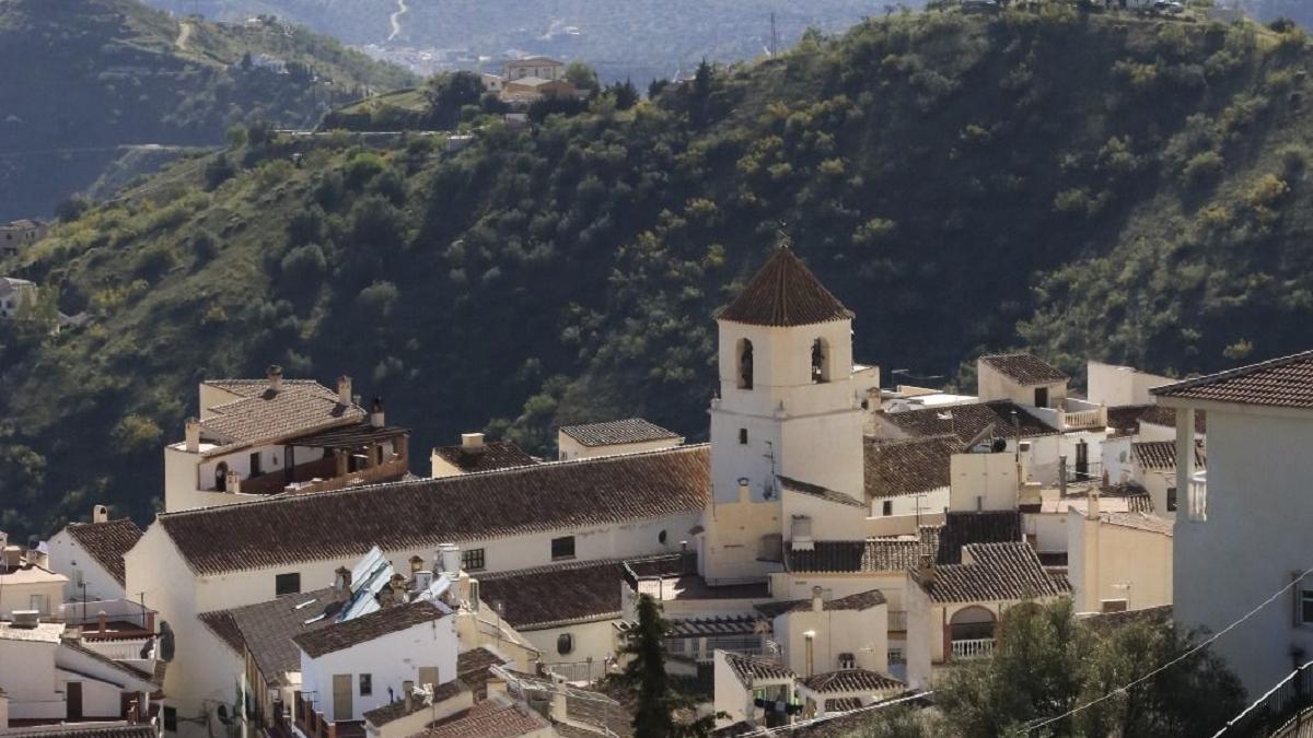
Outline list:
[[[716,316],[748,326],[811,326],[851,320],[852,311],[790,248],[776,248],[734,302]]]

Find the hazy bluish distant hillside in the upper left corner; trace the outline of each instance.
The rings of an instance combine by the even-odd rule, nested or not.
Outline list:
[[[234,122],[312,126],[387,64],[278,22],[177,20],[137,0],[0,3],[0,221],[49,215],[125,144],[222,144]]]

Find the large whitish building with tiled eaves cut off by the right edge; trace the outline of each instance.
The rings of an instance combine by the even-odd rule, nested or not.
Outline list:
[[[1313,352],[1154,390],[1176,415],[1174,615],[1220,632],[1213,650],[1262,695],[1313,658]],[[1195,414],[1208,414],[1208,473],[1195,473]]]

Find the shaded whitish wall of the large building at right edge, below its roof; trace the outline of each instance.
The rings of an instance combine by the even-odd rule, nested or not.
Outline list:
[[[1178,621],[1216,633],[1313,566],[1313,415],[1221,404],[1207,411],[1208,519],[1191,520],[1182,495],[1173,604]],[[1213,646],[1250,695],[1291,671],[1291,649],[1313,654],[1313,628],[1292,624],[1293,607],[1292,596],[1280,596]]]

